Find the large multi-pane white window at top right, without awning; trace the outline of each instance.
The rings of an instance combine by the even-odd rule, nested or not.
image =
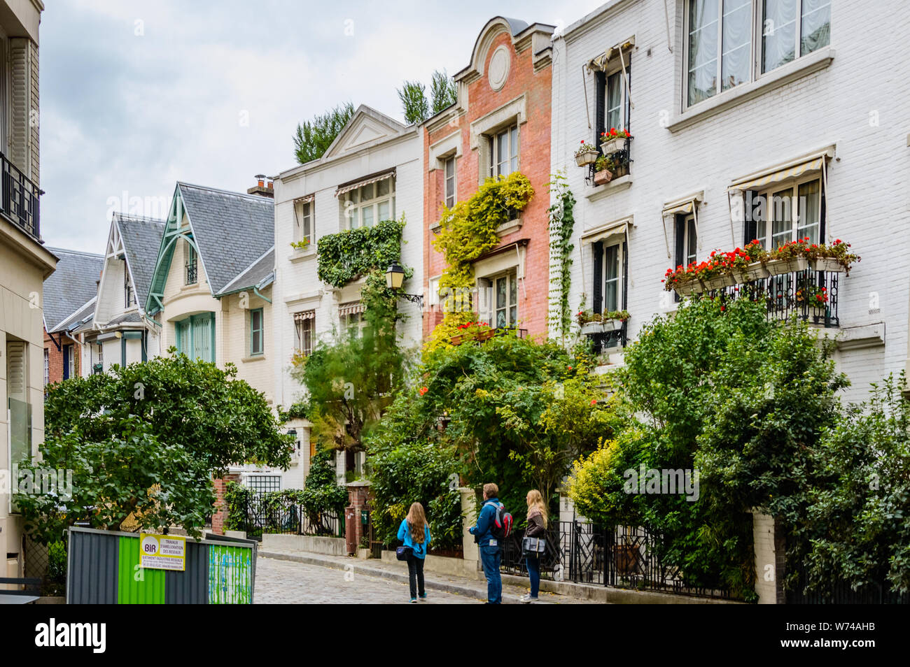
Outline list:
[[[831,0],[686,0],[685,105],[830,43]]]

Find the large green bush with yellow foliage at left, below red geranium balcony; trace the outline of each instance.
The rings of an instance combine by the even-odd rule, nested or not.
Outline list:
[[[576,466],[576,507],[662,534],[659,555],[690,584],[753,599],[749,513],[802,521],[814,479],[808,453],[838,423],[846,384],[830,353],[805,324],[769,321],[747,299],[696,299],[657,318],[617,373],[621,433]],[[626,471],[642,464],[698,469],[698,500],[626,493]]]

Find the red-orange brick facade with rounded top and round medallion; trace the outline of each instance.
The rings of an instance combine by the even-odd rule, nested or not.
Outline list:
[[[519,257],[515,249],[519,244],[523,263],[517,271],[518,326],[534,337],[546,336],[550,290],[551,30],[549,25],[491,19],[480,32],[471,64],[455,75],[458,103],[431,118],[424,130],[424,287],[430,294],[430,281],[445,267],[444,258],[433,248],[433,227],[445,202],[444,160],[455,156],[457,201],[465,201],[482,183],[481,174],[489,174],[489,137],[517,124],[518,171],[531,180],[535,194],[521,214],[521,227],[502,234],[501,244],[488,256],[499,252]],[[503,49],[508,58],[503,57]],[[428,309],[424,336],[441,320],[439,308]]]

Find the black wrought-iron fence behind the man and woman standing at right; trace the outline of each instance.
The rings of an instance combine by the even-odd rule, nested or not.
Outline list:
[[[502,549],[502,572],[527,574],[521,558],[523,531],[515,530]],[[546,534],[541,577],[641,591],[729,598],[730,593],[685,581],[679,568],[659,555],[661,537],[634,526],[604,527],[580,521],[553,522]]]

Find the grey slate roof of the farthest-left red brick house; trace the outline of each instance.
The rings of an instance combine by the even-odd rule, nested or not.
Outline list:
[[[44,314],[48,332],[57,331],[70,315],[96,296],[104,255],[64,248],[47,248],[59,258],[56,271],[45,280]]]

